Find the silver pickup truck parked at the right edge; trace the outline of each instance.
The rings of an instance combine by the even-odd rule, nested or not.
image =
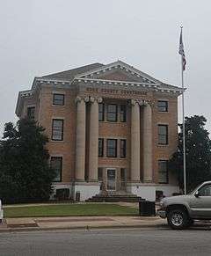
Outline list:
[[[160,201],[158,216],[167,217],[173,230],[182,230],[194,220],[211,220],[211,181],[206,181],[191,194],[166,197]]]

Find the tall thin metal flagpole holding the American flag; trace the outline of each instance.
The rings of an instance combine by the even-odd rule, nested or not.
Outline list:
[[[181,33],[183,26],[180,26]],[[181,55],[181,77],[182,77],[182,119],[183,119],[183,174],[184,174],[184,194],[186,194],[186,125],[185,125],[185,97],[184,97],[184,63],[183,63],[183,55]]]

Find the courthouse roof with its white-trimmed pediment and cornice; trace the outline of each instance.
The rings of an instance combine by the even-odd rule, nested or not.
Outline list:
[[[122,75],[122,72],[125,73],[125,77]],[[32,90],[36,88],[36,83],[38,81],[42,82],[44,80],[47,80],[48,82],[53,81],[55,83],[70,84],[72,84],[74,80],[78,80],[79,82],[84,80],[84,83],[87,83],[87,81],[90,80],[91,83],[96,81],[97,83],[102,82],[104,84],[137,84],[137,86],[149,86],[161,91],[178,91],[179,93],[183,90],[178,86],[163,83],[120,60],[106,65],[95,62],[76,69],[69,69],[43,77],[35,77],[33,80]]]

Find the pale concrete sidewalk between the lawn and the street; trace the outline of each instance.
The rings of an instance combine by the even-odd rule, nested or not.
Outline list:
[[[103,228],[165,228],[157,216],[64,216],[6,218],[0,232],[21,230],[71,230]]]

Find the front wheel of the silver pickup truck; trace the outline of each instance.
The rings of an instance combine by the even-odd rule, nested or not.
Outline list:
[[[186,229],[189,224],[189,217],[183,209],[172,209],[167,214],[168,224],[173,230]]]

